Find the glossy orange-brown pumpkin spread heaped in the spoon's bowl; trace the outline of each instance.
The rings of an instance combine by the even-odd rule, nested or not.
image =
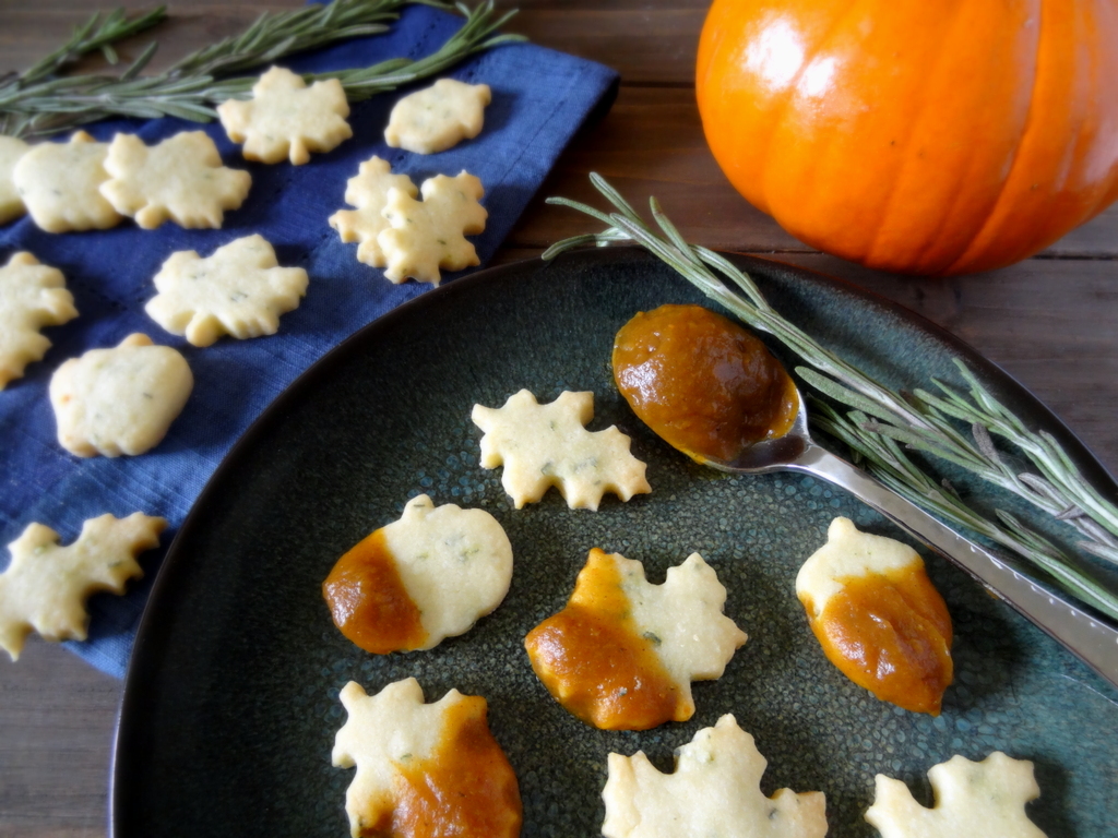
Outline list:
[[[799,398],[765,344],[699,305],[641,312],[614,340],[614,381],[664,441],[700,463],[787,434]]]

